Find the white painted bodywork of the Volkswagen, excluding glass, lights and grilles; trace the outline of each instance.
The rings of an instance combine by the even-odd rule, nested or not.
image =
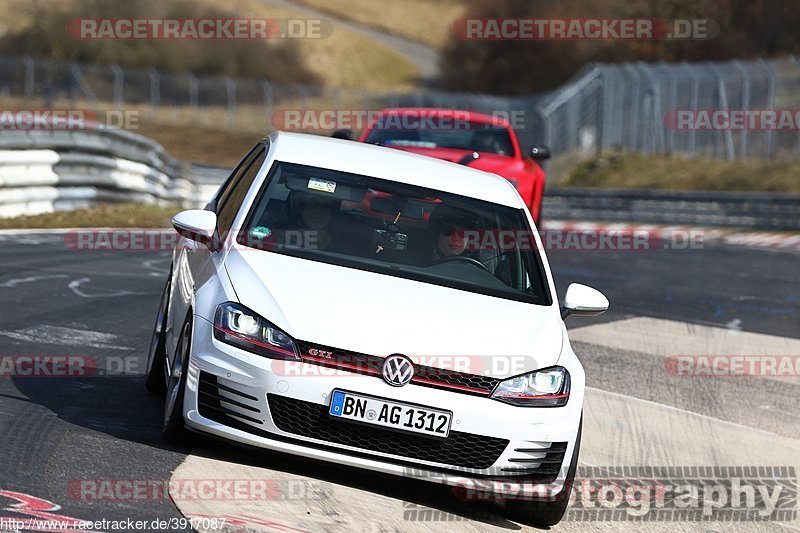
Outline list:
[[[516,189],[499,176],[351,141],[276,133],[269,142],[266,160],[233,221],[232,235],[243,225],[275,161],[375,176],[524,209],[529,224],[535,228]],[[446,464],[400,460],[380,452],[298,437],[278,429],[269,415],[268,394],[325,405],[334,388],[347,389],[447,409],[454,415],[452,430],[508,439],[510,444],[491,469],[495,475],[503,467],[519,466],[509,462],[514,455],[519,456],[515,448],[545,448],[552,442],[567,442],[561,473],[555,481],[540,487],[545,496],[557,494],[563,487],[577,438],[585,378],[567,339],[550,267],[536,233],[535,238],[553,302],[549,306],[248,249],[232,241],[221,251],[211,252],[181,238],[173,254],[166,346],[171,359],[178,333],[191,310],[192,346],[184,396],[187,426],[243,444],[453,485],[463,484],[465,478],[472,479],[476,474],[489,473],[473,469],[459,473]],[[249,353],[214,338],[214,312],[226,301],[245,305],[296,339],[353,352],[381,357],[403,353],[412,358],[512,356],[523,361],[521,369],[494,369],[496,378],[558,364],[570,374],[569,401],[563,407],[517,407],[414,383],[393,387],[376,376],[325,375],[317,371],[319,367],[305,363],[299,364],[306,375],[288,375],[283,361]],[[201,371],[257,399],[254,405],[263,414],[261,434],[229,427],[200,414]],[[416,466],[409,467],[408,463]],[[513,493],[521,486],[522,482],[515,488],[509,477],[498,490]]]

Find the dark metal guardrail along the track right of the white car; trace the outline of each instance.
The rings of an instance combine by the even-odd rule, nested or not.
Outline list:
[[[800,230],[800,194],[558,188],[545,219]]]

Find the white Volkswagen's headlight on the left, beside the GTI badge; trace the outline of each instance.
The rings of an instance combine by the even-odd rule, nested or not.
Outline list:
[[[294,340],[243,305],[227,302],[217,306],[214,338],[273,359],[300,359]]]

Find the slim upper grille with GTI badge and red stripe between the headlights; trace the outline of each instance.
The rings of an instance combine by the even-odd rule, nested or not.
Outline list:
[[[358,374],[373,376],[380,376],[381,374],[381,366],[383,365],[384,358],[377,355],[340,350],[338,348],[321,346],[305,341],[297,341],[297,347],[300,350],[300,357],[304,363],[340,368]],[[312,349],[327,352],[330,354],[330,357],[311,355],[309,352]],[[455,370],[415,364],[414,377],[411,383],[427,387],[449,389],[466,394],[488,396],[492,393],[499,381],[499,379],[489,376],[467,374]]]

